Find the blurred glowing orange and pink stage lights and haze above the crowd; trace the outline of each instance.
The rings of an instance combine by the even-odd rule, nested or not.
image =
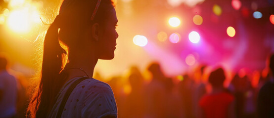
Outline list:
[[[42,21],[53,21],[61,2],[0,0],[0,52],[8,55],[10,71],[25,89],[41,62],[42,40],[37,37],[48,27]],[[171,80],[166,87],[175,94],[180,94],[185,77],[207,85],[206,74],[202,76],[216,66],[225,69],[227,88],[236,73],[249,78],[254,89],[267,78],[266,59],[274,51],[274,0],[117,0],[116,12],[115,58],[99,60],[94,78],[111,85],[119,97],[119,112],[127,108],[119,100],[133,93],[133,73],[140,75],[144,86],[150,84],[147,67],[152,62],[160,64]],[[249,90],[243,93],[250,95]],[[25,96],[28,99],[29,93]],[[180,95],[174,96],[179,102]],[[256,114],[253,104],[251,112]],[[185,117],[182,106],[175,108],[170,118]],[[129,118],[125,112],[119,115]]]

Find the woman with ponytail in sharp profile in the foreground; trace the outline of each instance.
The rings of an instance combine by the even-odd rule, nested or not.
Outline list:
[[[117,118],[112,89],[91,78],[98,59],[114,58],[117,22],[112,0],[63,1],[45,36],[40,83],[29,117]],[[88,79],[77,84],[60,107],[68,89],[83,77]]]

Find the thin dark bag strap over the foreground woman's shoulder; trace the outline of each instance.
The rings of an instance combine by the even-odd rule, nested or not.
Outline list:
[[[64,97],[63,97],[63,100],[62,100],[62,102],[61,102],[61,104],[60,104],[60,107],[59,107],[59,110],[58,110],[58,112],[57,112],[56,118],[61,118],[62,113],[63,113],[63,109],[64,109],[64,107],[65,107],[65,105],[66,105],[66,103],[67,103],[68,97],[70,96],[70,94],[71,94],[71,92],[73,91],[73,89],[74,89],[80,82],[82,82],[82,81],[84,81],[84,80],[86,80],[86,79],[89,79],[89,78],[88,78],[88,77],[80,78],[80,79],[74,81],[74,82],[70,85],[69,89],[66,91],[66,93],[65,93],[65,95],[64,95]]]

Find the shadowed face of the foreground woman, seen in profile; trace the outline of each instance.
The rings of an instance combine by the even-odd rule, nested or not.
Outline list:
[[[99,59],[113,59],[114,50],[116,49],[116,39],[118,33],[116,32],[117,17],[114,8],[110,10],[111,15],[106,19],[106,24],[100,29],[98,51]]]

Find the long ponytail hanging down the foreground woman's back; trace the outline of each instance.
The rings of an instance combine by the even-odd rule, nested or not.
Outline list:
[[[63,69],[62,56],[66,52],[59,43],[56,19],[57,17],[46,32],[40,84],[28,107],[27,114],[31,118],[46,117],[54,105],[55,96],[64,84],[65,78],[60,77],[60,71]]]

